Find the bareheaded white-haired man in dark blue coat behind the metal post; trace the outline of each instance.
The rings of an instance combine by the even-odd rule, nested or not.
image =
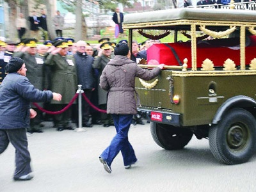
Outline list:
[[[92,92],[95,90],[95,73],[92,68],[94,58],[86,54],[86,42],[80,40],[76,43],[77,52],[74,54],[77,68],[77,82],[82,85],[86,97],[91,100]],[[82,121],[83,127],[92,127],[89,122],[90,105],[84,99],[82,100]]]

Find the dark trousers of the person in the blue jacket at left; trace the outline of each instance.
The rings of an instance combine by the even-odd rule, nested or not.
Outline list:
[[[9,143],[15,148],[15,173],[14,178],[31,173],[30,154],[26,129],[0,129],[0,154],[6,150]]]

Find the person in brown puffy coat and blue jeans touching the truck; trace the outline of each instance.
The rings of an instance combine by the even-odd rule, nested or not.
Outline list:
[[[115,58],[109,61],[100,76],[100,87],[108,91],[107,113],[113,116],[116,136],[100,155],[100,162],[106,172],[111,173],[111,163],[121,150],[125,168],[131,168],[138,159],[128,141],[132,115],[137,113],[135,77],[150,80],[160,74],[164,64],[153,70],[145,70],[129,59],[129,47],[120,43],[115,47]]]

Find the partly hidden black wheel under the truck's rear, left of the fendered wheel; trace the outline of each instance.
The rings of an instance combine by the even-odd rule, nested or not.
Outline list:
[[[152,138],[160,147],[167,150],[184,148],[193,136],[193,132],[172,125],[150,123]]]

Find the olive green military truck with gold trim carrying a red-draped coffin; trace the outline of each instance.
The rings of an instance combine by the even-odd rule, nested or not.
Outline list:
[[[184,148],[192,136],[209,139],[225,164],[244,163],[256,145],[256,14],[250,10],[181,8],[125,15],[129,45],[135,33],[154,44],[150,60],[166,64],[152,81],[136,79],[138,111],[152,138],[166,150]],[[180,35],[190,38],[179,40]],[[206,36],[206,40],[203,40]],[[152,62],[151,62],[152,63]],[[155,62],[156,63],[156,62]]]

